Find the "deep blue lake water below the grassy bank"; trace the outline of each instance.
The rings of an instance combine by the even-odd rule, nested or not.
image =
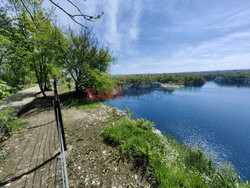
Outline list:
[[[200,88],[138,90],[104,103],[130,108],[135,118],[147,118],[176,139],[200,145],[217,161],[231,162],[244,180],[250,180],[249,87],[207,82]]]

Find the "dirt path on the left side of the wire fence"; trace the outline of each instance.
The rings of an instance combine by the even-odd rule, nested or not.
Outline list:
[[[41,104],[42,103],[42,106]],[[56,187],[60,185],[60,158],[54,111],[50,101],[37,99],[21,115],[29,126],[4,143],[0,185]]]

